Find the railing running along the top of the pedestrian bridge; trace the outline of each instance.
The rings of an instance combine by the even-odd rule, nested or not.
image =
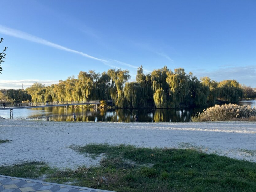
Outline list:
[[[0,104],[0,108],[19,108],[19,107],[33,107],[33,106],[55,106],[55,105],[75,105],[75,104],[100,104],[101,101],[112,103],[112,100],[88,100],[88,101],[55,101],[55,102],[41,102],[41,103],[13,103],[13,104]]]

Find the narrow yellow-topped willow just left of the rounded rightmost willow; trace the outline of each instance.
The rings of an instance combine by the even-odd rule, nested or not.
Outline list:
[[[218,83],[214,80],[211,80],[209,77],[202,77],[200,80],[204,86],[209,87],[209,95],[207,98],[208,103],[215,104],[220,92],[218,88]]]

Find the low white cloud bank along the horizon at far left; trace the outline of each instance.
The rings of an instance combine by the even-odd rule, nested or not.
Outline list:
[[[39,80],[39,79],[22,79],[22,80],[3,80],[0,79],[0,89],[21,89],[22,84],[24,88],[30,87],[34,83],[42,83],[45,86],[56,84],[58,81],[53,80]]]

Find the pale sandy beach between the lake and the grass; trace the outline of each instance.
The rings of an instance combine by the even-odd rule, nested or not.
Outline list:
[[[0,120],[0,166],[25,160],[75,169],[97,165],[71,145],[133,144],[142,147],[195,148],[256,162],[256,123],[86,123]]]

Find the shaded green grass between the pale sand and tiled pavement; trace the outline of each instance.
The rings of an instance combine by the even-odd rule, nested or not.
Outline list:
[[[30,177],[28,173],[26,176],[19,174],[33,169],[31,177],[46,174],[44,180],[47,182],[119,192],[256,191],[256,163],[249,161],[191,149],[152,149],[107,144],[72,148],[80,153],[105,154],[105,157],[97,167],[52,170],[39,162],[35,167],[33,163],[5,167],[5,172],[0,167],[0,174],[9,175],[8,172],[13,170],[11,176]]]

